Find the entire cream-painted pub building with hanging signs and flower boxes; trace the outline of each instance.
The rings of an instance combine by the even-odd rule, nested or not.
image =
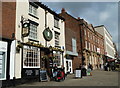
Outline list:
[[[64,18],[37,1],[16,8],[15,78],[39,81],[40,70],[50,77],[54,64],[65,66]]]

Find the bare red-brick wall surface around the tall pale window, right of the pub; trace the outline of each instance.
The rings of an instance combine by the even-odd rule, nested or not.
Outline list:
[[[82,64],[82,55],[81,55],[81,41],[80,41],[80,28],[79,28],[79,21],[78,19],[72,17],[70,14],[65,12],[62,9],[60,14],[63,18],[65,18],[65,45],[66,51],[72,52],[72,38],[76,39],[76,48],[78,56],[71,56],[72,58],[72,66],[73,71],[76,68],[79,68]]]

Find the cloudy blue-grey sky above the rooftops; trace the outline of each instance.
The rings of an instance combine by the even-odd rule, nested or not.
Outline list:
[[[40,0],[44,1],[44,0]],[[53,0],[54,1],[54,0]],[[57,0],[59,1],[59,0]],[[116,0],[117,1],[117,0]],[[62,8],[93,26],[105,25],[118,46],[118,2],[43,2],[56,13]]]

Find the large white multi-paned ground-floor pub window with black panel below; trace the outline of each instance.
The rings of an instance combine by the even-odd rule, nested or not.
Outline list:
[[[40,48],[23,46],[22,78],[39,80]]]

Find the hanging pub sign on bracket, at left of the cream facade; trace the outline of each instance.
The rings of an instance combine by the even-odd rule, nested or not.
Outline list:
[[[30,23],[22,24],[22,36],[27,37],[30,33]]]

